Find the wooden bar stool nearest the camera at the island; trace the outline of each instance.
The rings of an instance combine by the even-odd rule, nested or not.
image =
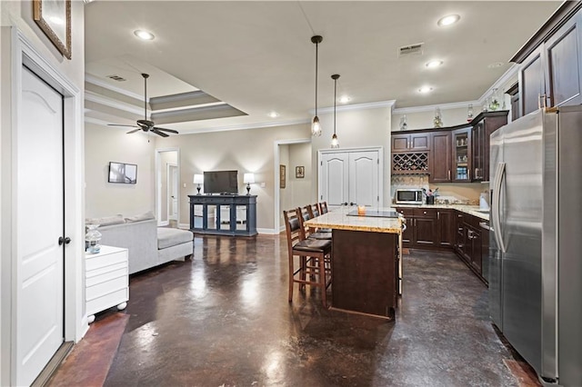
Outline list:
[[[305,289],[306,284],[321,288],[321,301],[326,307],[326,289],[331,284],[326,261],[331,257],[331,241],[306,238],[300,208],[284,211],[283,215],[289,254],[289,303],[293,301],[294,284],[299,283],[299,290]],[[295,257],[298,257],[298,269],[295,269]]]

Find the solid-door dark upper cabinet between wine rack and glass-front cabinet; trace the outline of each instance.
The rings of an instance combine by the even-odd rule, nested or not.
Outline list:
[[[452,179],[453,149],[451,132],[435,132],[432,134],[428,165],[429,183],[450,183]]]

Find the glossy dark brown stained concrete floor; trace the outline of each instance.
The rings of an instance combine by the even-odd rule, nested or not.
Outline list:
[[[318,290],[287,303],[280,236],[195,243],[194,260],[132,276],[105,386],[520,385],[487,287],[453,253],[405,255],[386,322],[323,309]]]

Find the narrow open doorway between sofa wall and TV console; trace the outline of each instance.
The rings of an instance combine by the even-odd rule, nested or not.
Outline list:
[[[159,226],[180,224],[180,150],[156,149],[156,219]]]

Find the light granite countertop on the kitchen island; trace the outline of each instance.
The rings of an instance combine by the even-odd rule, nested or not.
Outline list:
[[[377,216],[349,216],[347,213],[356,207],[342,207],[329,213],[309,219],[306,224],[312,227],[336,230],[367,231],[372,233],[401,233],[402,216],[384,218]],[[380,211],[395,211],[394,208],[374,208]]]

